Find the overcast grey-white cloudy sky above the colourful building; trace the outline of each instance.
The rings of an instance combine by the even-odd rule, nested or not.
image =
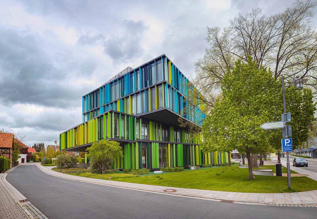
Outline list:
[[[53,144],[82,122],[81,96],[127,66],[164,53],[190,77],[207,26],[292,2],[0,0],[0,129],[27,135],[27,145]]]

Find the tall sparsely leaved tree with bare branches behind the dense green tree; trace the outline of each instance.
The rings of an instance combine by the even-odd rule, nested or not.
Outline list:
[[[207,107],[213,107],[217,91],[227,69],[235,61],[254,57],[258,68],[272,70],[275,80],[280,76],[299,75],[309,79],[307,86],[317,96],[317,33],[309,25],[316,2],[295,1],[285,11],[262,15],[262,9],[239,13],[229,21],[223,32],[219,27],[207,27],[209,46],[196,65],[196,88],[205,96]]]

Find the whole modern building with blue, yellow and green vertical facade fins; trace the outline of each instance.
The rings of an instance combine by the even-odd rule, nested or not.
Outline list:
[[[156,169],[228,162],[227,153],[201,152],[201,135],[180,128],[183,117],[197,125],[203,104],[191,111],[185,99],[184,74],[165,55],[138,68],[126,68],[82,97],[82,123],[60,135],[60,147],[85,151],[102,139],[120,142],[124,157],[113,168]],[[230,158],[229,158],[230,159]]]

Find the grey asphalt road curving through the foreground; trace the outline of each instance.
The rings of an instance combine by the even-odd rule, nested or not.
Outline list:
[[[34,164],[7,181],[49,218],[316,218],[316,208],[234,204],[96,185],[43,173]]]

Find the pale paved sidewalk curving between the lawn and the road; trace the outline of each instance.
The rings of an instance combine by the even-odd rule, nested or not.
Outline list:
[[[126,189],[134,189],[147,192],[164,193],[167,195],[185,196],[222,202],[233,202],[240,204],[261,204],[278,206],[303,206],[317,207],[317,190],[308,192],[292,193],[247,193],[247,192],[221,192],[201,189],[187,189],[168,186],[153,186],[128,182],[118,182],[104,179],[92,179],[74,175],[68,175],[51,170],[52,167],[44,167],[36,164],[44,173],[53,176],[77,180],[82,182],[95,183],[105,186],[115,186]],[[310,174],[308,174],[310,175]]]

